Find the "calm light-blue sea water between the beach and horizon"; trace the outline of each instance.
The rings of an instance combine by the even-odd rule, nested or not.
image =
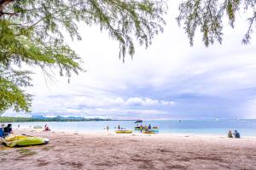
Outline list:
[[[48,124],[53,130],[58,131],[103,131],[109,126],[114,131],[118,125],[133,129],[133,121],[102,121],[102,122],[15,122],[13,127],[30,127]],[[218,134],[226,135],[228,130],[235,129],[241,136],[256,136],[256,120],[221,120],[221,121],[145,121],[144,124],[160,127],[160,133],[192,133],[192,134]]]

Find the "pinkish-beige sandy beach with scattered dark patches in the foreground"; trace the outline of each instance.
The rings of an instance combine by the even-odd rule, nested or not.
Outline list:
[[[49,144],[8,148],[7,169],[256,169],[256,139],[183,134],[115,134],[15,131],[49,138]]]

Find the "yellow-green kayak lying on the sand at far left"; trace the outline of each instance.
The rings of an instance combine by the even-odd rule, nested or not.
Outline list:
[[[3,143],[9,147],[14,146],[28,146],[28,145],[38,145],[38,144],[48,144],[49,139],[34,137],[34,136],[26,136],[26,135],[13,135],[3,139]]]

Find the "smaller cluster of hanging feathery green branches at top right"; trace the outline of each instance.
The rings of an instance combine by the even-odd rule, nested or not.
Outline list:
[[[248,28],[242,43],[250,42],[256,21],[256,0],[186,0],[179,5],[177,23],[183,28],[193,46],[195,31],[200,28],[202,41],[208,47],[215,41],[223,41],[223,20],[227,16],[229,25],[234,28],[236,15],[240,10],[248,12]]]

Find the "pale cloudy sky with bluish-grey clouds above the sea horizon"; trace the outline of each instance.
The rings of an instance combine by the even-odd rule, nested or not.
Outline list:
[[[249,45],[241,11],[235,29],[224,22],[223,44],[206,48],[197,32],[193,47],[177,26],[178,1],[169,2],[164,33],[133,59],[119,59],[119,44],[97,26],[79,24],[82,41],[66,42],[83,59],[85,72],[49,80],[30,68],[32,112],[3,116],[85,116],[112,119],[256,118],[256,34]]]

